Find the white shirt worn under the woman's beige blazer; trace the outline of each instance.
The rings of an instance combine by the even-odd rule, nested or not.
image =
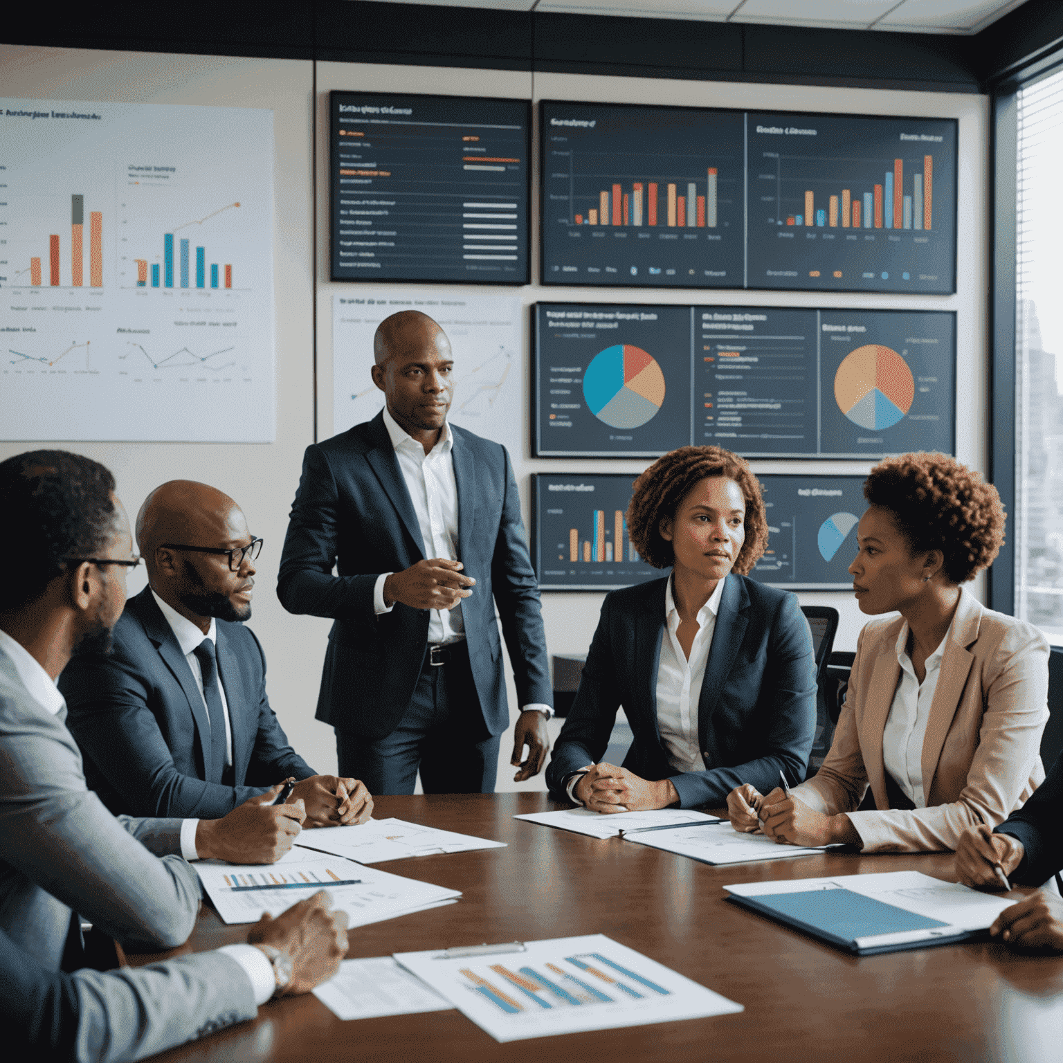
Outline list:
[[[912,659],[908,656],[908,624],[905,624],[897,636],[900,679],[882,731],[882,761],[908,799],[916,808],[926,808],[926,794],[923,792],[923,742],[948,635],[945,635],[938,648],[927,658],[926,677],[919,682],[915,677]]]

